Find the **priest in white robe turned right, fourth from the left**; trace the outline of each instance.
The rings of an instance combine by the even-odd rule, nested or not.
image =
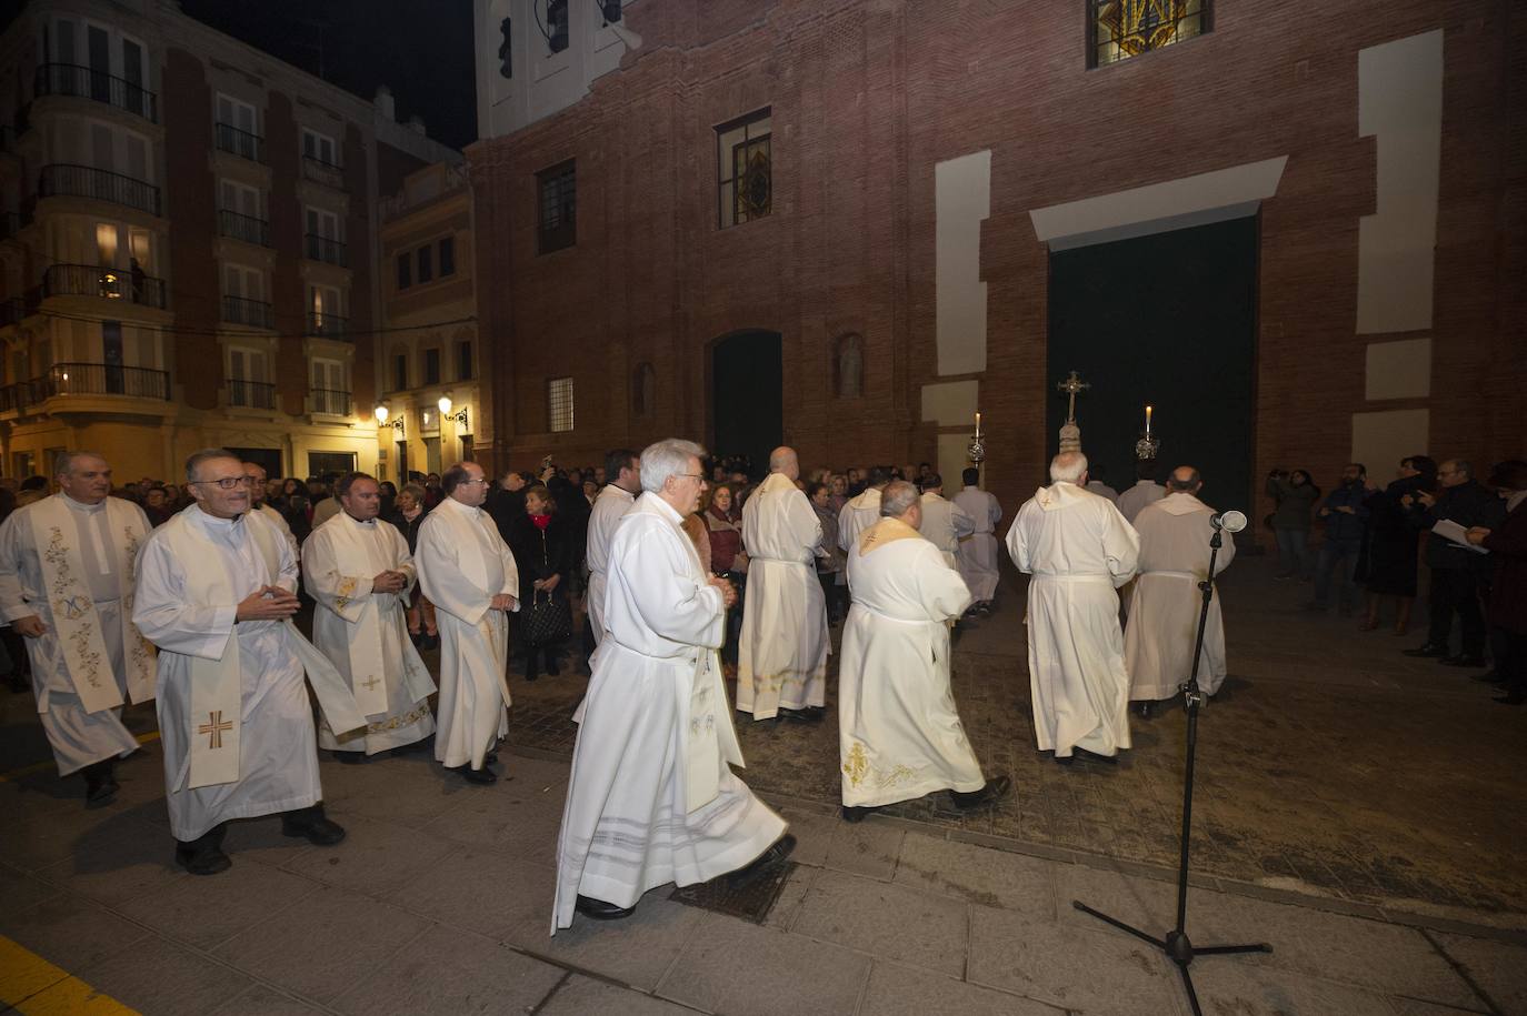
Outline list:
[[[508,734],[508,615],[519,610],[519,569],[483,511],[483,467],[458,462],[440,487],[446,496],[418,528],[414,555],[440,627],[435,758],[467,783],[490,784],[498,773],[487,763]]]

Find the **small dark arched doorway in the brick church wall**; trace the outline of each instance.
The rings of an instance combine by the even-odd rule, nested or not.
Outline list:
[[[745,455],[753,476],[785,439],[785,366],[777,331],[736,331],[710,351],[712,455]]]

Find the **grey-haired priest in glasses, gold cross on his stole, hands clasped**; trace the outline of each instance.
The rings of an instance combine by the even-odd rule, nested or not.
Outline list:
[[[229,866],[229,819],[281,813],[281,831],[333,845],[345,830],[324,815],[313,709],[365,725],[333,664],[292,625],[296,558],[250,511],[238,456],[186,459],[195,503],[154,529],[137,561],[133,621],[159,647],[159,732],[176,862],[191,874]]]

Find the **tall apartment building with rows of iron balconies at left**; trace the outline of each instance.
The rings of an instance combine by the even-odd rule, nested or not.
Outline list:
[[[376,468],[379,195],[460,156],[169,0],[34,2],[0,64],[0,470]]]

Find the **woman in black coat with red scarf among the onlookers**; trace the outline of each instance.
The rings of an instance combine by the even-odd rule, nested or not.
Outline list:
[[[557,517],[557,503],[542,484],[525,490],[525,514],[510,528],[508,549],[515,552],[519,567],[519,616],[516,632],[524,633],[525,680],[541,676],[545,662],[547,674],[557,674],[557,650],[571,635],[573,609],[568,601],[571,581],[568,575],[577,560],[573,534]],[[538,612],[553,612],[567,618],[567,630],[553,638],[538,638]],[[553,625],[557,627],[557,625]]]

